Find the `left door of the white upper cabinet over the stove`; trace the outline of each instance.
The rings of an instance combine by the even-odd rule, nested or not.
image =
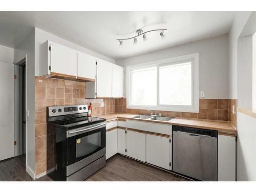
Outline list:
[[[50,42],[51,46],[51,74],[76,78],[77,51]]]

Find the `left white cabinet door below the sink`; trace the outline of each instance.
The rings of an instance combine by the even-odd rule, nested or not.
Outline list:
[[[127,129],[127,156],[145,162],[146,134],[144,131]]]

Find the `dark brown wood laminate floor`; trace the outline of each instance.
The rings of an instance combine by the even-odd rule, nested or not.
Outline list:
[[[0,161],[0,181],[33,181],[25,170],[25,155]],[[52,181],[48,176],[36,181]],[[159,168],[119,154],[106,161],[106,166],[86,181],[188,181]]]

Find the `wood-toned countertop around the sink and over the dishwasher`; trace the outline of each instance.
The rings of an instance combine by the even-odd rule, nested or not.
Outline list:
[[[130,119],[137,121],[146,121],[146,122],[156,122],[163,124],[172,124],[180,126],[189,126],[199,129],[208,129],[219,131],[221,135],[230,135],[236,136],[237,130],[234,128],[228,121],[216,121],[216,120],[201,120],[201,119],[189,119],[189,118],[173,118],[169,121],[159,121],[159,120],[149,120],[149,119],[137,119],[133,118],[136,114],[119,114],[111,113],[104,115],[95,115],[95,117],[100,117],[106,119],[106,122],[116,120],[116,119]]]

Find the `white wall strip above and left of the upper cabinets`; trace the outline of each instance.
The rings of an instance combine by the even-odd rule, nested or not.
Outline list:
[[[35,28],[35,76],[38,76],[38,74],[39,74],[39,71],[38,71],[39,70],[39,46],[47,40],[57,42],[60,45],[67,46],[69,48],[72,48],[72,49],[81,51],[83,53],[87,53],[92,56],[95,56],[97,58],[115,63],[114,59],[111,59],[109,57],[106,57],[106,56],[96,53],[94,51],[91,51],[87,48],[76,45],[73,42],[70,42],[66,39],[63,39],[61,37],[58,37],[56,35],[53,35],[51,33],[43,31],[41,29]]]

